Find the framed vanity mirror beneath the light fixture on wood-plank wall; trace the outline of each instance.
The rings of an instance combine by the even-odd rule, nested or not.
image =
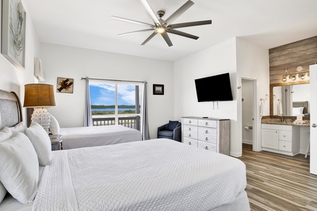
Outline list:
[[[309,116],[310,84],[271,84],[270,115]]]

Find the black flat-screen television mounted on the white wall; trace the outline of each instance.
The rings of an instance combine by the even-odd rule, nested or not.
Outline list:
[[[198,102],[232,101],[229,73],[195,79]]]

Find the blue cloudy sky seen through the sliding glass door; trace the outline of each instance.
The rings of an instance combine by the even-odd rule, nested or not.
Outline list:
[[[92,105],[115,105],[115,84],[89,83]],[[135,85],[118,84],[118,105],[135,105]]]

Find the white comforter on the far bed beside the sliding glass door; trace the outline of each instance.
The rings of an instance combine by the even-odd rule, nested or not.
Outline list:
[[[63,149],[104,146],[142,140],[142,134],[137,129],[122,125],[64,127],[61,128],[60,134],[63,139]]]

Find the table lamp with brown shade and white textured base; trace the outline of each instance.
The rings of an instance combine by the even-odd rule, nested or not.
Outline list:
[[[54,98],[54,86],[50,84],[25,84],[24,104],[25,108],[35,108],[32,113],[32,122],[42,125],[49,134],[51,116],[46,108],[56,106]]]

